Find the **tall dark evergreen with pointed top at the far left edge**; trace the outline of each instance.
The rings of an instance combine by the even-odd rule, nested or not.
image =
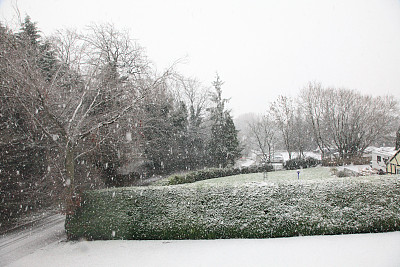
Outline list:
[[[35,99],[39,91],[35,82],[41,81],[40,68],[37,66],[38,33],[29,17],[17,34],[0,23],[2,226],[11,224],[21,214],[52,204],[49,195],[55,188],[54,183],[46,183],[46,167],[50,165],[49,139],[31,119],[41,120],[45,117],[39,108],[40,101]],[[31,107],[33,110],[29,111]]]

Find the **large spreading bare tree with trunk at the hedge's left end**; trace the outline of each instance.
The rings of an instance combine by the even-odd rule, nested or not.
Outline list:
[[[123,142],[116,136],[130,131],[140,102],[169,71],[152,73],[142,49],[111,25],[91,26],[86,34],[60,32],[51,41],[57,63],[50,79],[38,66],[41,55],[31,52],[36,51],[32,44],[6,42],[4,80],[9,85],[2,88],[32,125],[27,136],[46,138],[60,156],[67,211],[72,212],[78,165],[99,147]]]

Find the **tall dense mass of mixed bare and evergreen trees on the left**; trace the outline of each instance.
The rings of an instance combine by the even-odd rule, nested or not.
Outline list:
[[[156,71],[144,48],[111,24],[40,34],[27,16],[0,24],[1,214],[155,174],[233,165],[237,130],[212,88]],[[49,198],[49,195],[52,196]]]

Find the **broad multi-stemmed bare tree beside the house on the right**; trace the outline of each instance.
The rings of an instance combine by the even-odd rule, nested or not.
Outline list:
[[[309,84],[302,99],[320,150],[335,149],[342,159],[359,156],[393,132],[398,114],[393,97],[371,97],[347,89]]]

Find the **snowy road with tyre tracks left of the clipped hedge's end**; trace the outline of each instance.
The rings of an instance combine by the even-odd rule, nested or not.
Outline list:
[[[65,215],[55,214],[0,236],[0,266],[6,266],[38,249],[66,240]]]

